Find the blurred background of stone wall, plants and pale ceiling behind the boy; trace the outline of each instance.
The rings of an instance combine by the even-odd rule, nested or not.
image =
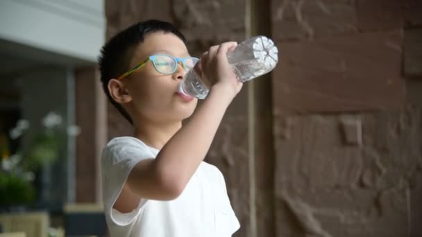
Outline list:
[[[99,158],[130,125],[96,59],[151,18],[196,56],[253,35],[278,46],[206,157],[234,236],[422,236],[421,0],[0,0],[0,233],[106,233]]]

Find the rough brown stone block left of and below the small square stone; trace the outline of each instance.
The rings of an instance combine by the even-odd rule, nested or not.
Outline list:
[[[276,190],[359,185],[362,152],[344,146],[337,116],[289,116],[289,120],[291,137],[275,139]]]

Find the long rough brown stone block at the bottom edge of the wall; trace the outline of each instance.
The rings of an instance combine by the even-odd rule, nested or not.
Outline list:
[[[325,189],[285,190],[278,193],[277,202],[283,202],[291,211],[303,236],[407,236],[410,211],[407,189],[403,186],[387,190]],[[277,209],[277,217],[286,215]],[[282,212],[282,213],[280,213]],[[278,219],[277,223],[282,221]],[[290,231],[295,225],[289,225]],[[277,231],[280,227],[276,225]]]

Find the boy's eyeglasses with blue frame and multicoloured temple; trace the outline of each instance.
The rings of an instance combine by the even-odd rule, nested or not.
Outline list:
[[[151,61],[153,62],[155,70],[157,70],[159,73],[162,74],[173,74],[176,69],[179,62],[182,62],[183,68],[188,71],[189,69],[192,69],[192,67],[195,66],[196,62],[199,61],[199,58],[189,57],[189,58],[175,58],[171,55],[167,54],[156,54],[151,55],[149,58],[144,60],[144,62],[141,62],[140,64],[137,64],[135,67],[130,69],[129,71],[126,71],[126,73],[123,73],[123,75],[119,76],[117,80],[121,80],[125,78],[126,76],[130,75],[131,73],[134,73],[135,71],[141,69],[145,66],[146,62]]]

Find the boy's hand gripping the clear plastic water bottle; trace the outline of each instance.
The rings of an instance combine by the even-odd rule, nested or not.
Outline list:
[[[237,42],[226,42],[212,46],[203,53],[199,64],[194,70],[201,76],[201,80],[211,90],[225,90],[224,94],[235,97],[242,89],[242,82],[237,80],[232,66],[228,63],[227,53],[233,51]]]

